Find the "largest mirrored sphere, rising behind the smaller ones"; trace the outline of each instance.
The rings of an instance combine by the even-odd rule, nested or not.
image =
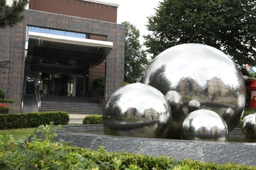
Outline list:
[[[203,44],[181,44],[150,63],[142,83],[157,88],[170,101],[173,121],[169,138],[179,138],[186,115],[209,109],[223,117],[231,131],[245,107],[242,73],[226,54]]]

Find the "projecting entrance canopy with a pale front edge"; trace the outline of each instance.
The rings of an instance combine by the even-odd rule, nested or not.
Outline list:
[[[28,53],[33,56],[74,56],[98,65],[112,48],[113,42],[28,31]]]

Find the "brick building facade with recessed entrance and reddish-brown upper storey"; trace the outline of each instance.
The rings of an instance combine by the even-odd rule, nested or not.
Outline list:
[[[31,0],[25,19],[0,31],[0,89],[21,112],[24,95],[89,95],[105,78],[104,100],[123,85],[125,26],[113,3]]]

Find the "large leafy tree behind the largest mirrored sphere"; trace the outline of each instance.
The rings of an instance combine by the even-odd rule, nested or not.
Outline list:
[[[255,0],[164,0],[148,17],[144,36],[148,52],[156,57],[163,50],[188,42],[222,50],[239,66],[256,65]]]

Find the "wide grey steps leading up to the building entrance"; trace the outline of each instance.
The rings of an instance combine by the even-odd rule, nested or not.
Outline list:
[[[39,112],[65,111],[69,114],[101,114],[103,107],[99,103],[91,103],[89,97],[66,97],[50,95],[41,98]]]

